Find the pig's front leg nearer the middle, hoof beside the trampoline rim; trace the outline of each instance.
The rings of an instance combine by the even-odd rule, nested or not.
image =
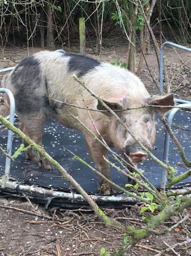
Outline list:
[[[107,158],[107,150],[98,141],[92,138],[91,135],[85,135],[85,138],[91,158],[96,164],[97,171],[101,172],[107,179],[111,180],[109,164],[105,162],[103,158],[103,156]],[[114,188],[102,178],[100,178],[99,190],[100,193],[103,193],[104,195],[109,195],[114,192]]]

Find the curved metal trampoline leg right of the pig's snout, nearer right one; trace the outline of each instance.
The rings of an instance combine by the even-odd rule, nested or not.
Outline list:
[[[177,105],[177,106],[184,107],[185,109],[186,108],[190,109],[191,102],[186,103],[186,104]],[[175,108],[175,109],[172,109],[171,112],[169,113],[168,119],[167,119],[169,127],[171,127],[173,117],[175,116],[176,112],[179,110],[180,110],[179,108]],[[170,135],[169,135],[168,131],[165,131],[163,162],[167,163],[167,164],[168,164],[168,155],[169,155],[169,142],[170,142]],[[162,180],[161,180],[161,185],[160,185],[160,188],[162,191],[164,191],[166,183],[167,183],[167,171],[163,170],[162,171]]]

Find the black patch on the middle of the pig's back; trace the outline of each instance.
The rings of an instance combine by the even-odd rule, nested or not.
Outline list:
[[[84,55],[77,55],[73,53],[65,53],[63,56],[69,56],[68,72],[76,73],[78,77],[85,75],[95,67],[101,65],[100,61],[91,59]]]

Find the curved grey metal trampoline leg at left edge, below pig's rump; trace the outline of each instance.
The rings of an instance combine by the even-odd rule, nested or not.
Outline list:
[[[14,124],[14,117],[15,117],[15,99],[12,95],[11,91],[5,88],[0,88],[0,93],[6,93],[10,100],[10,123]],[[8,139],[7,139],[7,154],[11,155],[12,152],[12,131],[8,131]],[[6,157],[6,164],[5,164],[5,175],[9,177],[10,175],[10,165],[11,159]]]

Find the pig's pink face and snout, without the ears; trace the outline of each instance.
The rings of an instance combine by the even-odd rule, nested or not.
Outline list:
[[[148,113],[148,110],[143,110],[141,113],[135,110],[132,110],[132,112],[134,113],[123,114],[121,118],[124,119],[126,126],[135,137],[148,149],[151,149],[155,141],[154,112]],[[131,135],[125,131],[124,127],[115,118],[112,118],[109,124],[109,135],[114,147],[129,155],[133,162],[139,163],[147,158],[146,152],[141,150]]]

